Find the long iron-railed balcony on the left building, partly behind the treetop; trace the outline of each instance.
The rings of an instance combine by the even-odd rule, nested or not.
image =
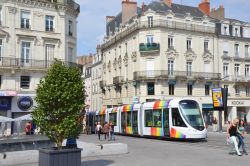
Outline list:
[[[54,62],[55,61],[48,60],[0,57],[0,68],[47,70]],[[78,67],[82,70],[82,65],[77,63],[67,61],[63,61],[63,63],[68,67]]]

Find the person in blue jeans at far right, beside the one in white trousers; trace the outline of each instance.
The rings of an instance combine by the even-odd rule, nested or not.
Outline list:
[[[242,147],[243,153],[245,155],[248,155],[248,153],[246,151],[246,145],[244,142],[244,138],[245,138],[246,134],[247,134],[247,132],[245,130],[244,121],[242,119],[240,119],[239,125],[238,125],[238,139],[239,139],[238,148],[240,149],[240,147]]]

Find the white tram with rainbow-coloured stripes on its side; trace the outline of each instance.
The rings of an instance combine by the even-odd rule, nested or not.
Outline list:
[[[173,139],[206,139],[207,130],[199,104],[171,99],[103,109],[96,121],[114,124],[115,133]]]

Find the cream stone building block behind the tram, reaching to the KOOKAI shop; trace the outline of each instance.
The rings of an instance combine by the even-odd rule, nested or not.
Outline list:
[[[103,105],[192,98],[211,124],[218,116],[211,89],[228,87],[222,118],[249,121],[248,28],[248,23],[225,18],[223,6],[210,10],[209,0],[197,7],[171,0],[141,7],[122,1],[122,11],[106,17]]]

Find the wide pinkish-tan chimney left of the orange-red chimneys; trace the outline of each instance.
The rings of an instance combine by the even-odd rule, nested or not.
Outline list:
[[[130,0],[122,1],[122,24],[128,22],[137,15],[137,2]]]

